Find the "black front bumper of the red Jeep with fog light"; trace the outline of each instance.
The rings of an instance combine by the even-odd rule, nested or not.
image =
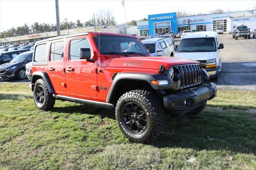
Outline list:
[[[168,111],[178,111],[180,115],[200,107],[204,101],[217,95],[216,84],[208,83],[201,87],[187,89],[164,97],[164,107]]]

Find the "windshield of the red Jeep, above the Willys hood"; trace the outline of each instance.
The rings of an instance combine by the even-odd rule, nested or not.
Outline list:
[[[136,37],[97,35],[94,41],[102,54],[148,55],[148,51]]]

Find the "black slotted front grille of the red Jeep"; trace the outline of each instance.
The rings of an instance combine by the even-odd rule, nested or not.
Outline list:
[[[202,83],[200,64],[174,65],[180,71],[180,89],[190,88]]]

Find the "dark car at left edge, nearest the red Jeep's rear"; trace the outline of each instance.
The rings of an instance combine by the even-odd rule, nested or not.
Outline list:
[[[12,61],[0,65],[0,79],[25,79],[26,64],[32,61],[32,56],[32,51],[26,51],[17,55]]]

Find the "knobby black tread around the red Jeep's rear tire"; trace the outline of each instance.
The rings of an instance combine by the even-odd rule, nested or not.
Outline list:
[[[36,90],[36,86],[37,84],[40,83],[42,84],[43,88],[44,88],[44,105],[40,108],[36,105],[36,101],[35,101],[35,90]],[[46,83],[44,82],[43,79],[38,79],[34,85],[34,89],[33,89],[33,95],[34,95],[34,103],[36,105],[36,107],[40,110],[43,111],[48,111],[50,109],[53,108],[54,104],[55,104],[55,98],[52,97],[52,94],[49,93]]]

